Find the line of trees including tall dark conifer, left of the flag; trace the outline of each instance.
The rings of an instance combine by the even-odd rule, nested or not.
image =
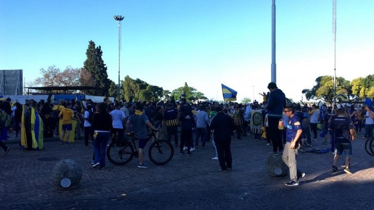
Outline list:
[[[85,91],[88,95],[104,96],[126,101],[158,101],[160,99],[179,99],[182,95],[188,101],[206,100],[203,93],[196,88],[189,87],[187,83],[171,92],[162,87],[150,85],[141,79],[132,79],[127,75],[120,81],[120,96],[118,97],[118,85],[108,78],[107,67],[102,59],[101,46],[96,47],[90,40],[86,50],[87,59],[82,68],[66,67],[60,70],[56,66],[50,66],[46,70],[40,69],[41,77],[37,77],[34,82],[28,83],[31,86],[62,87],[62,86],[89,86],[95,89]],[[56,90],[56,92],[58,92]]]

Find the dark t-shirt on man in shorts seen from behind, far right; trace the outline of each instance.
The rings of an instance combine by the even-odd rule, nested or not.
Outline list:
[[[353,129],[351,119],[344,116],[336,116],[329,124],[329,128],[334,130],[334,138],[336,141],[349,141],[351,140],[350,129]]]

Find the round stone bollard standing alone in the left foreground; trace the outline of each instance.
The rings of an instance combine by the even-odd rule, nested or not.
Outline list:
[[[75,189],[81,179],[82,167],[72,159],[60,160],[52,171],[53,185],[57,190]]]

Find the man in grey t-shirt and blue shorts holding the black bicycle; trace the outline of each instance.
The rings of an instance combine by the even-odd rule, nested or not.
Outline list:
[[[139,164],[138,168],[148,168],[143,162],[143,149],[147,144],[147,129],[146,124],[152,129],[152,130],[158,130],[156,129],[149,121],[147,115],[143,113],[143,105],[139,102],[136,103],[136,110],[135,114],[131,115],[126,122],[126,133],[129,133],[130,123],[132,124],[132,132],[134,133],[134,136],[139,139]]]

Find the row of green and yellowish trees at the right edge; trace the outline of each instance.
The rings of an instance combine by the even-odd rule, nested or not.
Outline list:
[[[319,76],[316,79],[316,85],[311,89],[303,89],[307,100],[321,99],[332,104],[334,101],[334,81],[332,76]],[[366,77],[358,77],[352,82],[337,77],[337,94],[344,94],[349,100],[354,102],[362,102],[365,98],[374,97],[374,74]]]

